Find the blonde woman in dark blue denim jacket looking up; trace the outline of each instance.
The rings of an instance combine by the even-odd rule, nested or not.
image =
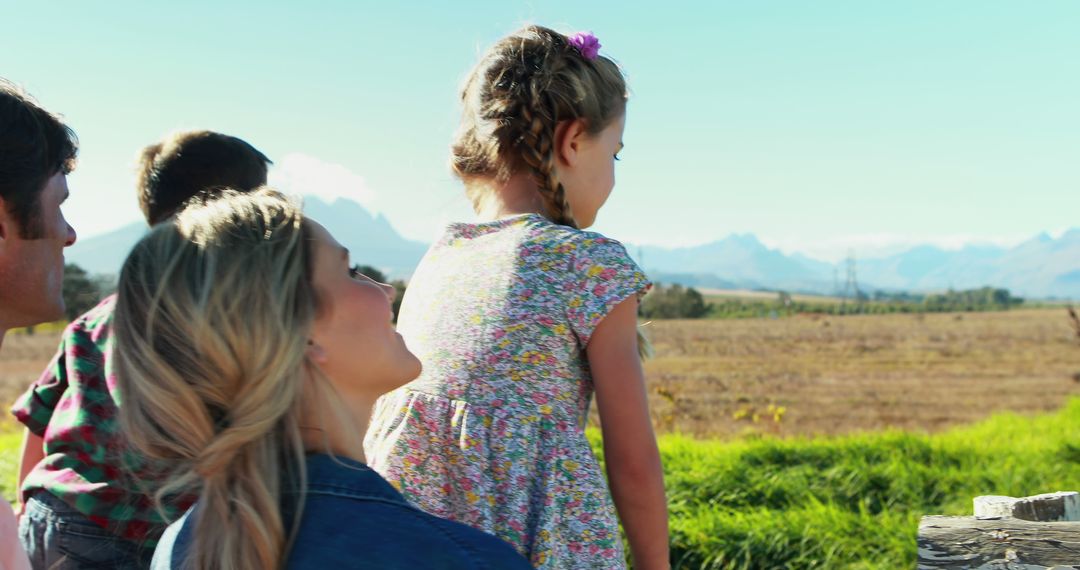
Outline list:
[[[195,505],[154,569],[528,568],[505,543],[409,506],[364,464],[382,393],[415,378],[393,289],[272,190],[159,225],[120,276],[121,425]]]

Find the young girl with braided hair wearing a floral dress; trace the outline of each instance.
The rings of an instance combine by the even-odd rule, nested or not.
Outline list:
[[[538,568],[667,568],[638,359],[649,282],[592,225],[615,185],[626,85],[591,35],[530,26],[469,77],[451,165],[481,218],[428,252],[399,330],[423,374],[380,399],[373,469]],[[584,436],[593,392],[610,493]],[[615,500],[612,505],[611,499]]]

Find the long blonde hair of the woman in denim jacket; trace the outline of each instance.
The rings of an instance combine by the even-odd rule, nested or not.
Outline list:
[[[310,233],[282,194],[226,191],[156,227],[121,271],[120,424],[170,465],[159,504],[199,493],[192,568],[275,568],[299,520],[285,529],[282,499],[302,498],[300,416],[319,396],[303,391],[325,388],[306,356]]]

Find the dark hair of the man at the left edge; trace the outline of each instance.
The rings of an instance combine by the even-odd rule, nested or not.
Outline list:
[[[23,239],[41,238],[41,192],[75,168],[75,133],[17,85],[0,79],[0,199]]]

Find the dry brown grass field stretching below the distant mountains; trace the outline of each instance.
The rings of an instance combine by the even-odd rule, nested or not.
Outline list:
[[[645,327],[660,432],[702,437],[939,431],[1080,395],[1065,310],[657,321]],[[57,332],[10,334],[0,403],[53,355]]]

